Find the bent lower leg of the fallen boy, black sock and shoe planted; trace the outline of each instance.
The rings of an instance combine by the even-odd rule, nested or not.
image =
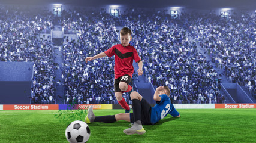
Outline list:
[[[146,132],[141,123],[140,101],[142,100],[142,96],[138,94],[138,92],[132,92],[131,100],[132,100],[132,110],[134,115],[134,124],[131,126],[131,128],[125,129],[124,133],[127,135],[132,135],[132,134],[142,135]]]

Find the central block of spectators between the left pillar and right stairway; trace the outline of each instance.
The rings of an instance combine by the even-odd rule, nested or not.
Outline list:
[[[223,97],[219,93],[219,85],[216,84],[216,71],[197,52],[195,43],[189,42],[186,32],[169,15],[162,14],[162,11],[140,15],[134,9],[128,11],[132,13],[122,15],[122,23],[132,29],[131,44],[141,54],[145,77],[149,82],[155,86],[170,86],[171,96],[179,103],[213,103],[217,101],[217,97],[218,102],[222,102]],[[91,17],[83,13],[85,11],[70,10],[64,13],[65,18],[62,20],[65,29],[77,30],[80,33],[77,42],[67,41],[64,45],[66,97],[68,100],[78,101],[81,95],[85,95],[83,98],[87,101],[88,98],[97,99],[98,96],[103,97],[101,101],[104,101],[104,97],[108,97],[105,91],[107,88],[107,94],[115,99],[112,89],[113,58],[85,63],[86,57],[119,43],[119,33],[113,22],[115,20],[103,12],[94,12]],[[153,16],[149,18],[148,15]],[[95,83],[89,85],[88,81]],[[89,91],[86,86],[91,87]]]

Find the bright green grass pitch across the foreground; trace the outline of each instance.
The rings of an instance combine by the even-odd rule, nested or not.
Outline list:
[[[144,135],[125,135],[129,122],[91,123],[88,142],[256,142],[256,109],[177,110],[155,125],[144,125]],[[68,142],[68,123],[54,115],[58,110],[0,111],[0,142]],[[96,116],[124,110],[94,110]],[[77,119],[83,120],[83,119]]]

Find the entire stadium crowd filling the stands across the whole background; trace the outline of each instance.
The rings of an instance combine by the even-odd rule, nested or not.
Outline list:
[[[221,103],[217,71],[197,50],[197,43],[230,82],[245,85],[254,94],[255,17],[234,14],[222,18],[213,13],[183,14],[173,19],[166,11],[128,8],[119,18],[100,11],[62,11],[65,31],[77,33],[77,40],[64,37],[62,77],[65,103],[117,104],[113,91],[114,58],[86,63],[85,58],[119,44],[117,27],[132,30],[131,45],[143,60],[144,79],[153,86],[168,85],[174,103]],[[0,60],[34,61],[32,101],[48,104],[55,97],[54,48],[38,35],[53,29],[51,13],[33,13],[22,8],[0,10]],[[12,15],[12,16],[10,16]],[[134,75],[135,77],[135,75]],[[137,79],[135,77],[134,79]],[[129,101],[128,95],[124,94]]]

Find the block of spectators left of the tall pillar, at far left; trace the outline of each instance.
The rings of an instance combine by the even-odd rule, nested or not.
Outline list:
[[[0,61],[32,61],[32,104],[53,101],[55,84],[53,48],[50,41],[40,39],[40,33],[52,28],[52,13],[40,13],[38,8],[1,6]]]

